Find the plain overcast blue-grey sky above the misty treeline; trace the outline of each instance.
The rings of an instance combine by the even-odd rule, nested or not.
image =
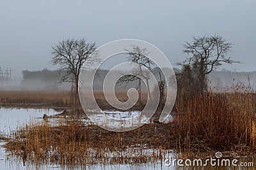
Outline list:
[[[225,66],[256,71],[255,0],[67,1],[0,0],[0,66],[16,77],[24,69],[54,69],[51,45],[86,37],[97,46],[134,38],[160,48],[174,65],[185,59],[181,44],[191,36],[219,34],[231,43],[230,57],[243,64]]]

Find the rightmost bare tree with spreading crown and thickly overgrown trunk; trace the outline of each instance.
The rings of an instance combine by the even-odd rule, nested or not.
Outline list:
[[[232,43],[218,35],[193,37],[192,43],[186,42],[183,47],[183,52],[191,56],[177,65],[182,66],[181,77],[186,79],[189,91],[203,93],[207,90],[207,74],[224,63],[237,62],[226,57]]]

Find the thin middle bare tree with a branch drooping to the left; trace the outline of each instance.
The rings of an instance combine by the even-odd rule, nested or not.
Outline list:
[[[147,55],[150,53],[148,52],[147,48],[140,48],[140,46],[136,46],[136,45],[131,45],[132,46],[132,50],[125,50],[127,51],[127,59],[131,62],[135,62],[136,64],[138,64],[138,67],[136,69],[134,69],[133,71],[133,75],[132,74],[128,74],[123,76],[122,78],[120,78],[120,80],[118,80],[118,85],[122,84],[122,83],[129,83],[130,81],[138,81],[138,92],[139,92],[139,102],[141,104],[141,80],[145,80],[146,81],[146,85],[147,85],[147,89],[148,89],[148,97],[151,100],[151,94],[149,91],[149,72],[143,70],[143,66],[146,67],[149,71],[152,69],[152,66],[154,65],[154,62],[150,59],[148,59]]]

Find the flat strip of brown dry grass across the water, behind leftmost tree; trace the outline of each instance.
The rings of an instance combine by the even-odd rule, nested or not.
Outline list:
[[[104,110],[113,109],[108,104],[102,91],[96,91],[94,97],[100,108]],[[127,94],[125,91],[116,92],[116,97],[120,101],[127,101]],[[62,91],[0,91],[0,107],[22,107],[22,108],[66,108],[77,107],[75,97],[72,97],[70,92]],[[142,103],[147,101],[147,93],[143,92]],[[137,105],[133,108],[139,110]]]

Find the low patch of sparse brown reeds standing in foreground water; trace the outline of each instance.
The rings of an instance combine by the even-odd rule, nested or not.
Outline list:
[[[25,162],[55,164],[131,164],[157,162],[173,148],[172,124],[147,124],[135,131],[111,132],[97,125],[26,125],[4,145]]]

